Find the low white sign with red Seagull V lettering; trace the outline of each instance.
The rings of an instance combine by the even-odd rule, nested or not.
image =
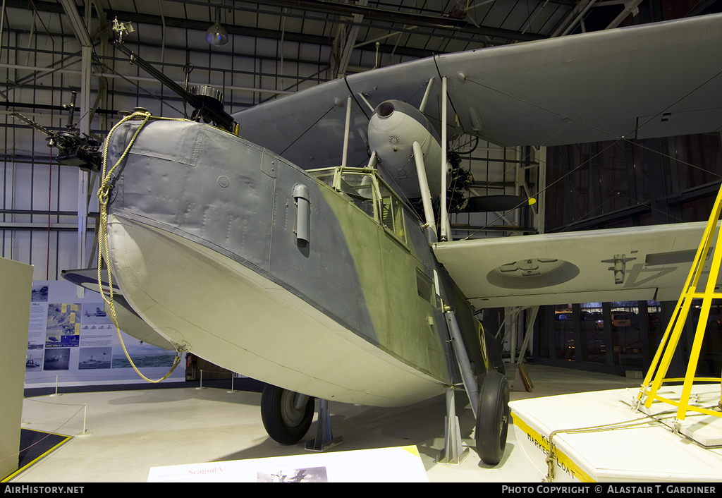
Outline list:
[[[152,467],[148,482],[429,482],[415,446]]]

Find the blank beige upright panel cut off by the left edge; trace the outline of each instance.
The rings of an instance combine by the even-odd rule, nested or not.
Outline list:
[[[25,383],[27,327],[30,322],[32,266],[0,258],[0,337],[4,368],[0,375],[0,480],[17,471]]]

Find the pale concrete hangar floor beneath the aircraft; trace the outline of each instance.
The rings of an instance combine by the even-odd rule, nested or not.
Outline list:
[[[552,366],[527,366],[534,390],[513,391],[511,400],[593,390],[635,387],[639,380]],[[511,369],[510,369],[511,370]],[[513,383],[513,372],[508,372]],[[261,423],[257,392],[227,392],[194,387],[160,390],[84,392],[25,398],[23,427],[77,435],[10,482],[146,481],[151,467],[221,460],[303,455],[303,443],[282,446]],[[374,408],[329,403],[334,436],[341,445],[329,451],[416,445],[432,482],[538,482],[510,425],[504,458],[495,467],[479,462],[474,450],[474,418],[464,392],[456,395],[464,445],[461,465],[435,462],[443,449],[445,398],[406,408]],[[313,439],[316,422],[307,439]]]

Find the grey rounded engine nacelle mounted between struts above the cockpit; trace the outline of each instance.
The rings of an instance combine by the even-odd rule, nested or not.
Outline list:
[[[441,193],[440,139],[417,108],[401,100],[380,103],[368,124],[368,142],[383,179],[409,199],[421,197],[412,148],[419,142],[431,195]]]

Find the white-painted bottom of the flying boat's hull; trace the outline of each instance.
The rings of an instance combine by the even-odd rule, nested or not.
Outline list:
[[[345,403],[409,405],[443,392],[438,380],[222,254],[123,218],[108,228],[123,294],[160,335],[201,358]]]

